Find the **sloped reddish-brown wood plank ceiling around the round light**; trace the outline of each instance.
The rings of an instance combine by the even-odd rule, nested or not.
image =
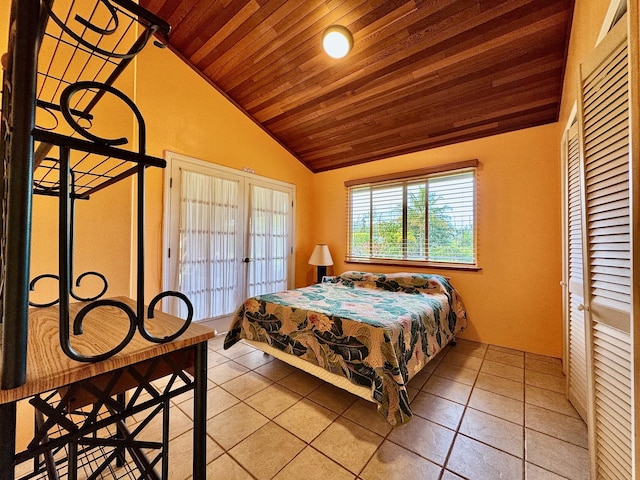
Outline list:
[[[554,122],[574,0],[141,0],[313,172]],[[323,31],[348,27],[340,60]],[[515,153],[515,152],[514,152]]]

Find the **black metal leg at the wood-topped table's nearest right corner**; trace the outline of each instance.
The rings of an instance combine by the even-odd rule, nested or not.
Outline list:
[[[207,342],[195,347],[193,392],[193,478],[207,478]]]

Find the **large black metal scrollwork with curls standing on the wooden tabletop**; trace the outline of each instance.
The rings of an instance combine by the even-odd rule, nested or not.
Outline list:
[[[122,1],[122,0],[114,0],[114,1]],[[108,2],[103,1],[105,5],[108,5]],[[110,10],[111,11],[111,10]],[[73,263],[74,263],[74,224],[75,224],[75,201],[79,198],[76,194],[76,173],[71,167],[70,155],[71,155],[71,147],[72,145],[66,145],[62,143],[59,145],[60,147],[60,158],[57,159],[59,162],[58,174],[59,181],[53,182],[53,186],[45,186],[36,183],[36,188],[39,189],[39,193],[44,194],[55,194],[59,197],[59,237],[60,237],[60,256],[59,256],[59,275],[53,274],[43,274],[34,278],[30,283],[31,290],[35,289],[35,286],[38,281],[49,278],[58,281],[58,299],[53,300],[47,303],[35,303],[30,302],[31,306],[36,307],[48,307],[59,304],[60,308],[60,344],[62,350],[65,352],[67,356],[70,358],[80,361],[80,362],[96,362],[100,360],[104,360],[106,358],[115,355],[120,352],[133,338],[135,331],[138,330],[140,335],[149,342],[153,343],[165,343],[175,340],[180,335],[182,335],[193,319],[193,305],[189,301],[189,299],[180,292],[175,291],[166,291],[156,295],[148,307],[145,307],[144,302],[144,173],[146,169],[146,161],[145,161],[145,145],[146,145],[146,129],[144,119],[142,114],[138,110],[137,106],[133,103],[133,101],[122,93],[120,90],[115,87],[107,84],[102,84],[95,81],[80,81],[76,82],[72,85],[66,87],[62,93],[60,94],[60,105],[57,109],[62,113],[62,116],[69,124],[69,126],[77,132],[79,135],[88,139],[89,141],[100,144],[103,146],[103,150],[105,155],[117,156],[117,153],[120,151],[114,147],[118,145],[124,145],[129,143],[129,140],[125,137],[118,138],[104,138],[98,136],[97,134],[91,133],[87,131],[87,128],[84,128],[78,122],[81,119],[86,119],[88,114],[81,114],[82,112],[78,112],[73,110],[70,107],[71,100],[73,96],[81,92],[83,90],[89,90],[97,95],[103,95],[104,93],[109,93],[120,100],[122,100],[133,112],[135,118],[138,121],[138,155],[140,156],[140,161],[137,166],[132,169],[136,172],[138,178],[138,202],[137,202],[137,305],[135,308],[132,308],[126,303],[115,299],[102,299],[103,295],[107,292],[108,282],[104,275],[98,272],[89,271],[84,272],[77,277],[75,280],[75,287],[79,287],[80,283],[83,279],[88,276],[97,277],[102,280],[103,288],[102,290],[93,296],[82,297],[78,293],[74,291],[74,285],[72,284],[73,274]],[[80,113],[80,114],[79,114]],[[89,118],[91,121],[93,117]],[[112,153],[113,152],[113,153]],[[81,177],[81,176],[80,176]],[[79,177],[79,178],[80,178]],[[78,187],[80,188],[80,187]],[[175,331],[168,335],[156,336],[149,329],[147,329],[147,325],[145,322],[147,320],[153,320],[155,317],[155,307],[163,298],[166,297],[175,297],[180,299],[187,307],[187,318],[184,320],[184,323],[180,325],[180,327]],[[71,299],[75,299],[82,302],[89,302],[86,305],[83,305],[75,318],[70,318],[70,310],[69,310],[69,302]],[[81,335],[83,333],[83,322],[85,321],[87,315],[93,312],[96,309],[100,308],[118,308],[122,310],[129,320],[129,326],[124,335],[124,338],[115,345],[110,348],[108,351],[100,353],[98,355],[85,355],[83,353],[77,352],[73,346],[71,345],[71,335]],[[73,322],[73,331],[70,330],[70,321]],[[153,329],[151,329],[153,330]],[[124,333],[124,332],[123,332]]]

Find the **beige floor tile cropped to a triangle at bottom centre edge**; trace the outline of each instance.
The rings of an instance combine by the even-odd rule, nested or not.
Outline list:
[[[317,450],[306,447],[274,480],[353,480],[355,475]]]

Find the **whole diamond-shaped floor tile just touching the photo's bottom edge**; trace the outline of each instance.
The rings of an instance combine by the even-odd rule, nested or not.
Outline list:
[[[269,422],[233,447],[229,454],[258,480],[269,480],[302,451],[305,443]]]

